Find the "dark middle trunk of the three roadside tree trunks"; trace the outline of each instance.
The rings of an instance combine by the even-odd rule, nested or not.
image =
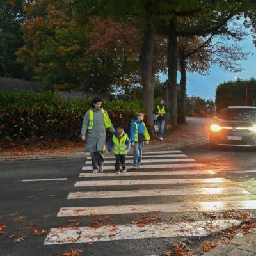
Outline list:
[[[177,127],[177,35],[175,19],[170,20],[168,38],[168,86],[170,88],[171,123]]]

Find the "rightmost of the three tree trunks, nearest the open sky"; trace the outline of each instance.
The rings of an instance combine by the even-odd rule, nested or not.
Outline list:
[[[186,124],[186,60],[184,47],[179,48],[180,62],[180,99],[179,99],[179,114],[177,123]]]

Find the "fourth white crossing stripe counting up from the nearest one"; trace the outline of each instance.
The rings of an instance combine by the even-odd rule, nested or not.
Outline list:
[[[223,183],[230,182],[225,178],[206,179],[150,179],[150,180],[84,180],[77,181],[75,187],[87,186],[125,186],[125,185],[157,185],[157,184],[191,184],[191,183]]]

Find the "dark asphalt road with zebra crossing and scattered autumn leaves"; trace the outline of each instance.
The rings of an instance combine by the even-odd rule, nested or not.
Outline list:
[[[200,255],[205,237],[241,222],[223,212],[255,217],[253,151],[166,150],[144,154],[139,172],[121,175],[92,176],[82,170],[88,161],[0,163],[1,256],[152,256],[180,242]]]

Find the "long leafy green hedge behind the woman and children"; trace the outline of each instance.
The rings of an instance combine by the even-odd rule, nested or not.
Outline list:
[[[91,99],[65,100],[58,93],[0,93],[0,139],[38,138],[76,140],[81,137],[84,113]],[[134,113],[141,111],[139,101],[103,102],[114,127],[129,132]]]

